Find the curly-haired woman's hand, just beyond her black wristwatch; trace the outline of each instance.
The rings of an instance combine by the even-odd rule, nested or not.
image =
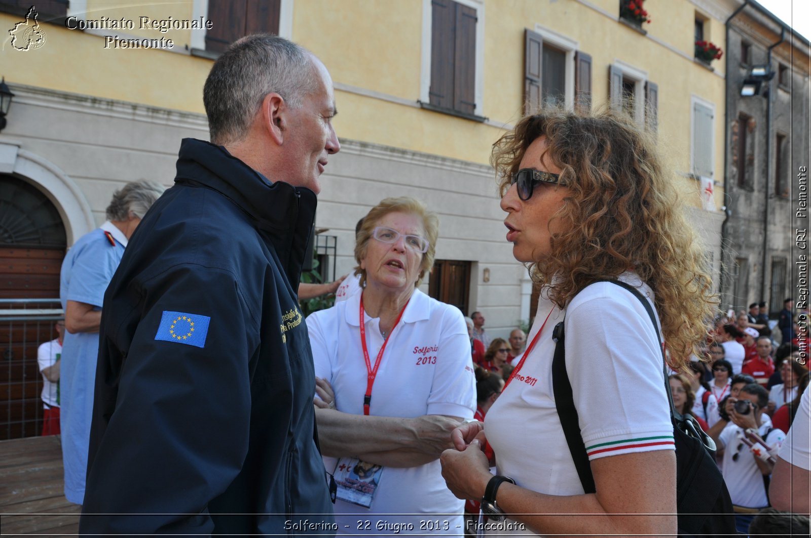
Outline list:
[[[471,423],[472,424],[472,423]],[[479,499],[491,479],[487,456],[482,451],[484,432],[463,450],[445,450],[440,456],[442,476],[451,493],[460,499]]]

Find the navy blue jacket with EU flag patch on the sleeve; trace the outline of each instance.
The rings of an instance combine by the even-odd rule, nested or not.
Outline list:
[[[311,190],[183,140],[105,293],[79,532],[333,523],[294,287],[314,216]]]

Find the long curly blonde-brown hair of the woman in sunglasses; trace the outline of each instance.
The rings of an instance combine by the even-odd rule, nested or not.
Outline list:
[[[718,300],[654,142],[621,113],[543,110],[493,144],[502,196],[541,136],[548,143],[541,159],[562,170],[560,183],[570,192],[552,218],[573,224],[551,235],[551,252],[530,264],[530,275],[562,309],[595,280],[636,271],[654,291],[671,365],[684,366],[698,354]],[[552,275],[559,277],[553,282]]]

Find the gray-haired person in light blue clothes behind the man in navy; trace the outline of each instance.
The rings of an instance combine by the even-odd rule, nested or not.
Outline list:
[[[101,304],[127,241],[164,190],[154,181],[127,183],[117,190],[107,207],[106,222],[79,237],[62,262],[59,298],[67,329],[60,372],[62,461],[65,497],[79,505],[88,465]]]

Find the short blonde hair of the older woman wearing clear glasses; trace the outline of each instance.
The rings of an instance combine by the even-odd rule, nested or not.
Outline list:
[[[374,232],[375,226],[380,222],[384,216],[389,213],[406,213],[408,215],[418,216],[423,220],[423,229],[425,230],[425,238],[428,241],[428,251],[423,254],[423,261],[420,263],[419,278],[414,283],[414,288],[418,288],[422,283],[423,277],[427,272],[431,272],[431,267],[434,267],[434,258],[436,257],[436,239],[440,236],[440,219],[433,211],[428,211],[425,204],[418,199],[410,198],[408,196],[400,196],[398,198],[386,198],[380,200],[375,207],[372,207],[367,216],[363,217],[363,224],[355,234],[355,261],[358,266],[355,267],[354,274],[360,275],[360,287],[366,287],[366,270],[360,268],[360,262],[366,258],[366,249],[371,239],[371,233]]]

